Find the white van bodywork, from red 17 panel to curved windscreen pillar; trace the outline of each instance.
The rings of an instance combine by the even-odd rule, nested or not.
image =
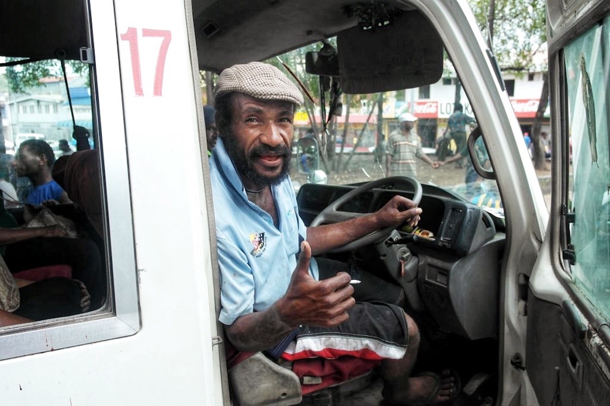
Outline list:
[[[2,327],[2,405],[231,404],[217,321],[218,263],[199,75],[199,68],[215,67],[217,60],[206,61],[198,46],[201,27],[193,22],[205,19],[202,10],[221,3],[82,2],[90,17],[90,58],[95,58],[94,122],[102,133],[96,148],[102,151],[109,301],[78,317]],[[523,289],[553,306],[561,307],[571,297],[557,273],[565,267],[561,250],[551,245],[559,238],[561,191],[554,187],[549,212],[511,102],[467,2],[395,3],[429,19],[454,65],[461,67],[462,85],[478,112],[503,195],[507,215],[498,285],[497,404],[542,405],[539,399],[546,397],[540,392],[553,384],[533,385],[528,375],[528,316],[519,305]],[[0,14],[5,15],[21,7],[2,4],[6,12]],[[70,2],[75,4],[79,1]],[[596,4],[596,15],[608,12],[603,1]],[[594,7],[587,7],[573,5],[575,18],[565,17],[565,24],[575,26],[578,18],[592,21]],[[550,10],[562,13],[557,7]],[[71,17],[65,18],[68,24]],[[239,52],[235,55],[240,58]],[[558,153],[560,110],[554,105]],[[560,173],[554,167],[553,175]],[[525,276],[532,277],[529,287]],[[595,368],[601,368],[607,383],[608,342],[585,324],[590,346],[598,351]],[[587,390],[589,377],[584,376]]]

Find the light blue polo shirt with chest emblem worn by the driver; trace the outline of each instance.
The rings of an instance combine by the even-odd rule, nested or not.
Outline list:
[[[271,187],[279,226],[246,197],[242,180],[218,139],[210,158],[210,178],[220,265],[220,320],[262,311],[281,298],[296,268],[296,254],[306,227],[298,215],[290,178]],[[309,273],[318,279],[312,258]]]

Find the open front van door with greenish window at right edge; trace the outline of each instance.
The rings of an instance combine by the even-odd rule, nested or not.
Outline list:
[[[540,405],[610,393],[610,3],[547,1],[553,197],[529,278],[525,368]],[[525,298],[525,296],[524,296]]]

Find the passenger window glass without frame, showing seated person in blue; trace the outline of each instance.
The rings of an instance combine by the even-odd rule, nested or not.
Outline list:
[[[76,155],[71,157],[77,150],[77,140],[73,138],[72,113],[59,61],[37,63],[38,67],[46,66],[49,75],[30,80],[31,66],[3,69],[2,73],[8,71],[4,74],[9,85],[5,97],[9,100],[9,114],[3,118],[9,125],[2,140],[4,152],[0,153],[3,197],[0,204],[3,261],[0,267],[10,272],[20,288],[20,306],[0,309],[32,321],[93,312],[104,306],[107,296],[103,221],[90,215],[99,211],[102,205],[101,178],[87,175],[86,180],[84,177],[77,180],[71,176],[76,172],[88,173],[91,165],[99,167],[99,150],[81,152],[78,159]],[[77,65],[83,64],[71,62],[68,69],[73,70]],[[87,66],[82,68],[81,74],[68,75],[68,87],[77,125],[84,127],[91,139],[91,143],[85,141],[84,145],[91,147],[96,133],[91,97],[88,96],[89,70]],[[22,115],[26,106],[22,110],[16,108],[18,101],[23,99],[32,100],[27,105],[26,116]],[[54,114],[30,115],[42,112],[41,100],[53,100],[60,108]],[[49,111],[49,104],[45,103],[45,112]],[[91,158],[82,158],[84,153],[89,153]],[[36,163],[43,161],[45,165],[34,165],[34,160]],[[49,201],[54,204],[49,205]],[[41,220],[43,216],[45,220]],[[38,224],[55,228],[46,231],[38,228],[41,227]],[[32,230],[31,235],[2,243],[4,235],[10,237],[16,227],[27,227]],[[42,231],[37,233],[38,229]],[[62,229],[66,231],[60,231]],[[45,297],[41,295],[43,291],[54,293]],[[68,300],[70,295],[82,296],[82,306]],[[5,315],[0,327],[19,324],[14,321],[10,315]]]

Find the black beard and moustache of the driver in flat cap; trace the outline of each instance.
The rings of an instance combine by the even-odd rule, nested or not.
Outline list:
[[[233,163],[237,168],[237,172],[240,175],[248,178],[248,180],[253,181],[254,184],[258,186],[273,186],[281,183],[281,181],[288,177],[288,173],[290,171],[290,159],[292,158],[291,145],[286,146],[282,144],[278,145],[277,147],[270,147],[269,145],[261,144],[254,147],[254,149],[252,149],[246,156],[243,149],[240,149],[237,142],[235,142],[235,137],[232,134],[223,137],[223,142],[224,149],[226,149],[229,158],[233,160]],[[257,158],[257,156],[270,154],[284,158],[282,161],[282,170],[275,177],[260,175],[260,173],[256,172],[256,169],[254,169],[253,166],[253,161]]]

